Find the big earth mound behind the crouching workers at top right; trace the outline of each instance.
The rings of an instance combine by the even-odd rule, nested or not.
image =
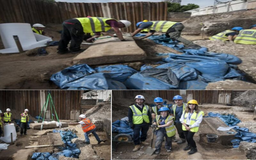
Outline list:
[[[182,22],[182,24],[185,26],[183,34],[199,35],[202,28],[201,23],[204,23],[206,27],[204,28],[204,33],[210,36],[236,26],[249,28],[256,20],[255,14],[256,10],[254,9],[249,11],[224,12],[193,16]]]

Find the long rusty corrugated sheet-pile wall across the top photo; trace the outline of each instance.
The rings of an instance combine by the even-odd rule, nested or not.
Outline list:
[[[167,2],[47,3],[42,0],[0,0],[0,6],[0,20],[3,23],[61,24],[72,18],[95,16],[129,20],[132,25],[123,31],[133,32],[139,21],[167,20]]]

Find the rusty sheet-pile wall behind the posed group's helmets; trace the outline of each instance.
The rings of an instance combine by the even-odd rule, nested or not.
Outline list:
[[[161,97],[173,101],[175,95],[181,95],[183,101],[197,100],[199,104],[228,104],[236,96],[236,93],[244,92],[243,90],[114,90],[112,91],[112,100],[120,98],[134,98],[136,95],[143,93]],[[152,101],[153,103],[153,101]]]

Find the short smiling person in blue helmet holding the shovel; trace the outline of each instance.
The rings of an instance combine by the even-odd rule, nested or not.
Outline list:
[[[169,108],[161,107],[159,111],[161,115],[157,115],[154,123],[151,125],[156,128],[156,151],[155,154],[160,153],[162,143],[165,137],[164,148],[167,152],[171,152],[172,137],[175,135],[175,128],[173,125],[174,117],[169,115]]]

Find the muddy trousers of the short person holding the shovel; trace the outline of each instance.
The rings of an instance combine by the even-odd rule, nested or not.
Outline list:
[[[162,147],[162,143],[165,137],[165,149],[171,149],[172,148],[172,137],[168,137],[166,134],[166,131],[158,130],[156,131],[156,151],[160,151]]]

